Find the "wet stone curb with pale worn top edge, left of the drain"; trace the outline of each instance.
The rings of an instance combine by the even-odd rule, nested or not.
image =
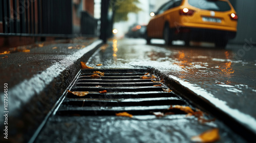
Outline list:
[[[102,40],[97,40],[84,49],[55,62],[31,79],[8,89],[10,98],[16,99],[8,103],[10,105],[9,142],[27,142],[31,138],[76,77],[80,70],[80,61],[86,62],[102,43]],[[0,97],[4,97],[3,93]],[[3,134],[1,142],[4,138],[2,136]]]

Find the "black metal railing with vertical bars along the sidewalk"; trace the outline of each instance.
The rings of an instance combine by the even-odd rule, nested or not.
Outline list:
[[[74,32],[72,0],[0,0],[0,8],[0,36],[78,34]],[[96,36],[98,20],[81,13],[80,33]]]

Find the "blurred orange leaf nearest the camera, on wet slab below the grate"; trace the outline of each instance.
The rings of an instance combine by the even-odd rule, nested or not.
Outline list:
[[[191,141],[194,142],[215,142],[220,139],[219,129],[214,128],[207,130],[200,135],[191,137]]]

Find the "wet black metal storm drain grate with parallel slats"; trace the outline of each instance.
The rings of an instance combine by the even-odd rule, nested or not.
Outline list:
[[[91,79],[94,71],[104,73],[97,79]],[[148,115],[153,112],[174,112],[167,110],[170,105],[189,106],[163,83],[152,79],[141,79],[147,69],[83,69],[71,91],[89,91],[83,97],[67,93],[56,115],[115,115],[128,112],[133,115]],[[160,79],[154,79],[159,81]],[[159,85],[161,86],[154,86]],[[106,90],[106,93],[99,91]]]

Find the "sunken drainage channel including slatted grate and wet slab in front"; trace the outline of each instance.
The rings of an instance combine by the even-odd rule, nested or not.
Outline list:
[[[92,79],[95,71],[104,76]],[[222,123],[202,124],[184,111],[169,109],[180,105],[196,110],[167,92],[164,83],[153,82],[159,77],[142,79],[153,77],[147,72],[144,68],[82,69],[70,91],[89,93],[79,97],[67,92],[34,142],[191,142],[191,136],[212,128],[219,128],[222,142],[244,142]],[[133,117],[116,116],[123,112]]]

